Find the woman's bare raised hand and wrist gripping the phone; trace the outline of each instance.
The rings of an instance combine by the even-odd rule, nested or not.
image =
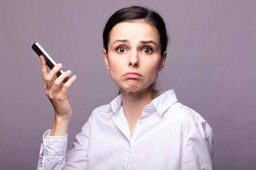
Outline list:
[[[57,72],[62,68],[61,64],[55,66],[49,73],[46,66],[44,57],[40,56],[41,71],[44,81],[45,94],[49,98],[55,111],[55,119],[53,123],[52,131],[56,129],[57,123],[61,126],[68,126],[69,119],[72,116],[72,109],[68,97],[68,89],[76,80],[76,75],[73,75],[64,85],[63,80],[71,75],[71,71],[65,71],[59,77],[56,76]],[[53,81],[55,79],[55,81]],[[64,128],[64,127],[63,127]],[[59,127],[59,129],[62,129]],[[65,128],[64,128],[65,129]],[[66,127],[67,131],[67,127]],[[62,129],[62,135],[65,132]],[[53,135],[54,132],[51,132]]]

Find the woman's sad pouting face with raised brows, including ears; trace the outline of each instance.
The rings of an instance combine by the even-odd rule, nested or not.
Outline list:
[[[166,51],[161,58],[157,29],[140,19],[115,25],[109,35],[108,54],[104,49],[103,56],[119,88],[136,92],[156,80],[164,66]]]

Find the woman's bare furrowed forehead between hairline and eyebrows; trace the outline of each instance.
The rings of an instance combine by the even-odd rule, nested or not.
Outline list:
[[[153,25],[143,19],[125,21],[116,24],[109,34],[110,44],[117,40],[154,41],[158,45],[159,33]]]

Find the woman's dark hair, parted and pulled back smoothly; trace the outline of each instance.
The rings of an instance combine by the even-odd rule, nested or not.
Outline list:
[[[108,19],[103,31],[103,47],[106,50],[106,53],[108,53],[109,33],[112,28],[120,22],[136,19],[144,19],[146,22],[157,28],[160,35],[161,56],[163,56],[169,39],[164,21],[155,11],[141,6],[131,6],[120,9]]]

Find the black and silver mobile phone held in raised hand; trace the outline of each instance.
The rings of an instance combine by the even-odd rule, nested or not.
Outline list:
[[[57,65],[57,63],[52,59],[52,57],[40,46],[40,44],[38,42],[35,42],[32,45],[32,49],[38,54],[38,56],[40,57],[40,55],[42,55],[45,60],[46,60],[46,65],[50,68],[53,69],[54,66]],[[59,77],[62,73],[64,73],[64,71],[62,69],[59,70],[59,72],[56,74],[57,77]],[[63,83],[66,83],[69,80],[69,77],[65,78]]]

